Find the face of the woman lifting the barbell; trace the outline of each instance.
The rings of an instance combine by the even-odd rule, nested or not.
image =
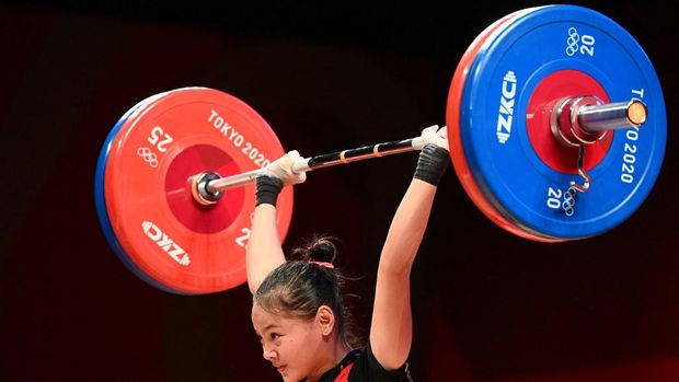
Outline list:
[[[325,367],[323,355],[327,342],[319,320],[272,314],[255,303],[252,323],[262,343],[264,359],[272,362],[284,381],[301,381],[319,374]]]

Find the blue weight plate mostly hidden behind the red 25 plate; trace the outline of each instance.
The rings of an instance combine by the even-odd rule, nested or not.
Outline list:
[[[118,239],[115,235],[115,232],[113,231],[113,227],[111,225],[111,218],[108,217],[108,211],[106,210],[106,193],[105,193],[105,187],[104,187],[104,178],[106,175],[105,170],[106,170],[106,162],[108,160],[108,153],[111,152],[111,144],[113,143],[116,136],[120,131],[120,128],[125,126],[125,124],[128,121],[130,117],[143,112],[146,107],[153,104],[158,100],[162,99],[166,94],[168,92],[156,94],[139,102],[138,104],[133,106],[129,111],[127,111],[120,117],[120,119],[118,119],[118,121],[114,125],[114,127],[108,132],[108,136],[106,137],[106,140],[104,141],[104,144],[102,146],[102,149],[99,153],[99,159],[96,162],[96,171],[94,174],[94,202],[96,206],[96,216],[102,227],[102,231],[104,232],[104,236],[106,238],[108,245],[111,245],[111,247],[113,248],[113,252],[120,259],[120,262],[123,262],[125,267],[127,267],[127,269],[129,269],[133,274],[137,275],[137,277],[139,277],[140,279],[142,279],[143,281],[148,282],[149,285],[156,288],[159,288],[161,290],[172,292],[172,293],[186,294],[182,291],[169,288],[168,286],[164,286],[156,281],[153,278],[149,277],[145,271],[139,269],[137,265],[135,265],[135,263],[131,261],[131,258],[128,256],[128,254],[125,252],[125,250],[118,242]]]

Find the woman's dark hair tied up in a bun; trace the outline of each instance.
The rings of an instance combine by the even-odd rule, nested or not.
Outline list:
[[[269,313],[284,313],[302,320],[312,320],[321,305],[335,314],[341,336],[350,347],[360,347],[361,339],[354,333],[355,322],[344,298],[346,277],[337,269],[318,263],[335,261],[335,239],[314,236],[304,246],[292,251],[296,259],[281,264],[260,285],[253,303]]]

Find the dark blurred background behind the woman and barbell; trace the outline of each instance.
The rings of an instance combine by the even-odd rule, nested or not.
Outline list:
[[[494,225],[451,171],[412,275],[416,381],[679,381],[675,11],[576,3],[620,23],[654,62],[668,113],[660,176],[614,230],[541,244]],[[244,286],[170,294],[108,247],[93,200],[108,130],[151,94],[202,85],[249,103],[303,155],[411,137],[445,124],[473,38],[536,4],[3,1],[0,381],[279,380]],[[285,247],[342,239],[365,328],[415,159],[318,171],[296,188]]]

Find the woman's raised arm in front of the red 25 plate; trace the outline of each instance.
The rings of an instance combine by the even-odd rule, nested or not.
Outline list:
[[[307,178],[306,173],[291,171],[298,158],[297,151],[288,152],[267,166],[268,175],[256,180],[256,207],[252,218],[250,241],[245,250],[248,287],[253,294],[266,275],[285,263],[285,254],[276,225],[276,200],[284,185],[302,183]]]

